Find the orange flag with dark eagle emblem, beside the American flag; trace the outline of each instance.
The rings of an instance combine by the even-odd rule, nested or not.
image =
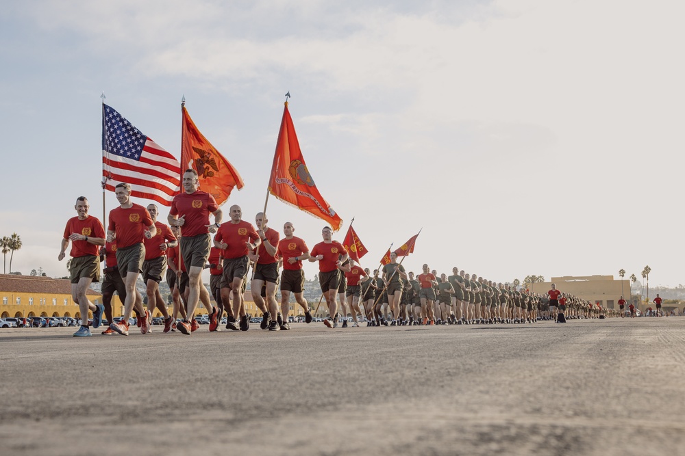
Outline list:
[[[242,189],[245,184],[238,170],[200,133],[192,122],[186,107],[183,113],[183,134],[181,138],[181,176],[186,170],[197,171],[199,187],[214,196],[221,206],[228,199],[233,187]]]

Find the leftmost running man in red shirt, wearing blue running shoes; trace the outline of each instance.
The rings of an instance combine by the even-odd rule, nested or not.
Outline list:
[[[99,247],[105,245],[105,228],[100,221],[88,215],[88,199],[79,196],[74,204],[78,214],[66,222],[64,236],[58,260],[64,260],[64,252],[71,241],[71,297],[79,305],[81,319],[85,325],[81,325],[74,336],[90,336],[88,329],[88,310],[93,312],[93,327],[99,327],[104,306],[95,306],[86,297],[86,291],[92,282],[100,280]]]

